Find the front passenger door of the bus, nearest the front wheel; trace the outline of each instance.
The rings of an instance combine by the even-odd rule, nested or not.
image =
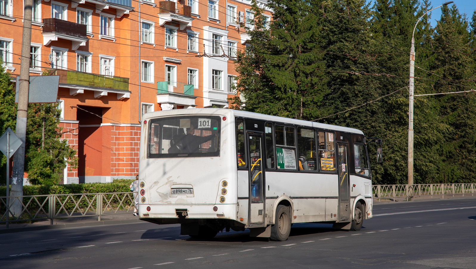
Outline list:
[[[339,210],[337,221],[350,221],[349,173],[347,165],[347,144],[337,143],[337,161],[339,173]]]

